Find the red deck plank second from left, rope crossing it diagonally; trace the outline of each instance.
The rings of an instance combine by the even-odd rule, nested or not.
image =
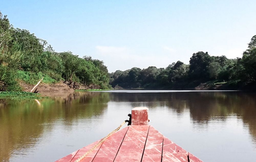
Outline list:
[[[76,161],[76,159],[78,159],[79,157],[81,157],[83,154],[85,154],[88,150],[90,150],[94,145],[96,145],[99,141],[96,141],[86,147],[83,147],[81,149],[79,149],[79,151],[77,152],[77,154],[74,156],[74,158],[70,161],[70,162],[74,162]],[[101,145],[100,145],[101,146]],[[83,158],[80,162],[88,162],[88,161],[92,161],[92,159],[95,157],[95,155],[97,154],[100,146],[98,146],[97,148],[95,148],[91,153],[89,153],[85,158]]]

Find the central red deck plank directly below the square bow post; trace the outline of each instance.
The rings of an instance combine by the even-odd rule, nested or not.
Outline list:
[[[148,129],[149,125],[129,126],[114,161],[141,161]]]

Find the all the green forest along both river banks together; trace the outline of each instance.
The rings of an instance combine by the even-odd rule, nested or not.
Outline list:
[[[103,61],[90,56],[79,58],[70,51],[55,52],[47,41],[28,30],[14,28],[1,12],[0,35],[0,91],[19,91],[20,82],[36,84],[42,77],[47,84],[76,82],[101,89],[192,89],[219,85],[239,89],[255,88],[256,83],[256,35],[242,58],[228,59],[199,51],[192,55],[189,64],[177,61],[166,68],[134,67],[113,73],[108,73]]]

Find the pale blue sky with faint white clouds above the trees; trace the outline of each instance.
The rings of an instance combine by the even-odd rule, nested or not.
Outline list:
[[[110,72],[189,63],[193,53],[241,57],[256,35],[256,1],[1,1],[14,27]]]

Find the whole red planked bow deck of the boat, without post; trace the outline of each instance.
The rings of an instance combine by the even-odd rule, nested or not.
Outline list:
[[[74,162],[99,141],[83,147],[56,162]],[[131,125],[114,133],[102,145],[81,160],[81,162],[88,161],[202,162],[149,125]]]

